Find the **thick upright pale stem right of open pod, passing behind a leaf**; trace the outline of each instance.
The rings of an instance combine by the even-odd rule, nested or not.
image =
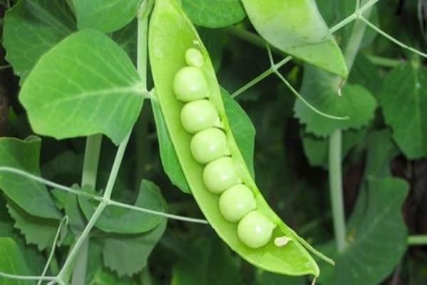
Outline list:
[[[365,4],[362,8],[354,11],[354,15],[358,15],[363,11],[369,17],[371,9],[366,9],[369,4],[375,3],[376,1],[369,0],[364,1]],[[363,9],[363,11],[362,11]],[[344,51],[345,61],[347,68],[351,70],[354,59],[359,51],[360,44],[364,36],[366,25],[362,21],[354,23],[352,33],[349,37],[349,41]],[[338,78],[338,82],[341,79]],[[335,82],[332,82],[335,85]],[[334,88],[339,88],[334,86]],[[342,252],[347,247],[346,241],[346,225],[345,225],[345,214],[344,214],[344,199],[342,194],[342,130],[334,130],[334,133],[330,136],[329,140],[329,177],[330,177],[330,196],[331,196],[331,207],[332,207],[332,220],[334,222],[334,236],[335,243],[337,245],[338,252]]]

